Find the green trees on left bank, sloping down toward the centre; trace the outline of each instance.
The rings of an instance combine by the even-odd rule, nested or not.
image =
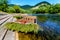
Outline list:
[[[11,5],[11,4],[10,4]],[[26,13],[28,11],[22,9],[19,5],[10,6],[7,0],[0,0],[0,11],[7,13]]]

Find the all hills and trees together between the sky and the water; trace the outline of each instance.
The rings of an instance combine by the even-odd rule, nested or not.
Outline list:
[[[8,4],[7,0],[0,0],[0,11],[8,13],[60,13],[60,4],[50,4],[46,1],[35,6]]]

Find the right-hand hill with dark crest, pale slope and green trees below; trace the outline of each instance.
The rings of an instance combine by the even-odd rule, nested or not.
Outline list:
[[[50,14],[60,14],[60,3],[58,4],[50,4],[46,1],[40,2],[36,4],[33,8],[31,8],[32,13],[50,13]]]

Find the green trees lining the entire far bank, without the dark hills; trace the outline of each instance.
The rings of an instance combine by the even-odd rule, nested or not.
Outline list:
[[[43,4],[43,3],[42,3]],[[56,14],[60,13],[60,4],[55,4],[55,5],[48,5],[48,4],[43,4],[43,5],[38,5],[39,7],[37,9],[28,9],[24,10],[22,9],[19,5],[13,5],[10,6],[8,4],[7,0],[0,0],[0,11],[3,12],[8,12],[8,13],[35,13],[35,14],[40,14],[40,13],[50,13],[50,14]],[[33,7],[34,8],[34,7]]]

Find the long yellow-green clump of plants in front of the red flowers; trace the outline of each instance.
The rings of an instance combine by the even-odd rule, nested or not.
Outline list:
[[[6,28],[12,31],[21,31],[21,32],[33,32],[33,33],[38,33],[38,28],[39,26],[37,24],[19,24],[19,23],[14,23],[14,22],[9,22],[5,24]]]

